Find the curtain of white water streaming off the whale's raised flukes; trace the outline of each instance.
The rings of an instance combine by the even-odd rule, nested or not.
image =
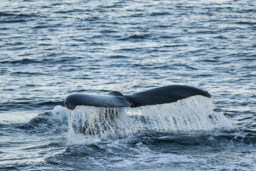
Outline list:
[[[73,111],[66,109],[69,141],[100,141],[144,131],[191,133],[233,129],[232,121],[214,108],[212,100],[203,96],[139,108],[78,106]]]

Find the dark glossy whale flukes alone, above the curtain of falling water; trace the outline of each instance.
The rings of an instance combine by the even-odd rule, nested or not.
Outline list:
[[[73,93],[66,97],[64,104],[70,110],[74,110],[75,107],[80,105],[106,108],[137,108],[146,105],[174,103],[178,100],[197,95],[211,98],[210,93],[203,89],[183,85],[171,85],[127,95],[123,95],[118,91],[110,91],[106,95]]]

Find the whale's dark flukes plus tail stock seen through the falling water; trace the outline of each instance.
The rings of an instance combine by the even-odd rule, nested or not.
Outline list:
[[[145,105],[173,103],[197,95],[211,97],[210,93],[194,87],[165,86],[129,95],[123,95],[118,91],[110,91],[106,95],[75,93],[67,96],[64,104],[71,110],[79,105],[98,107],[95,119],[86,121],[82,127],[74,128],[76,133],[97,135],[102,130],[118,127],[115,119],[122,111],[122,107],[137,108]]]

